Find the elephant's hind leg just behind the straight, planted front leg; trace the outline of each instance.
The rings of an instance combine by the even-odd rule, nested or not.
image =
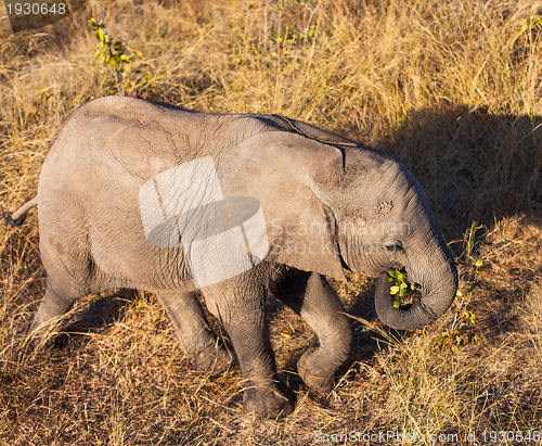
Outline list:
[[[158,301],[166,308],[179,344],[194,369],[214,374],[225,370],[233,357],[209,328],[195,293],[163,293]]]

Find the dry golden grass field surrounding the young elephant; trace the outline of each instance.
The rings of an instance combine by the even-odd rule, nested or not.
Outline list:
[[[34,196],[67,115],[117,92],[95,56],[94,17],[126,39],[129,94],[281,113],[399,160],[461,276],[455,305],[413,332],[378,323],[372,281],[335,283],[357,344],[326,397],[295,372],[312,333],[270,302],[297,402],[261,420],[243,410],[238,367],[190,369],[153,295],[82,298],[56,340],[33,349],[24,328],[44,283],[34,209],[20,228],[0,222],[2,445],[345,444],[350,433],[359,442],[346,444],[375,444],[366,434],[387,431],[405,435],[389,444],[542,443],[542,2],[93,0],[15,35],[0,14],[2,211]]]

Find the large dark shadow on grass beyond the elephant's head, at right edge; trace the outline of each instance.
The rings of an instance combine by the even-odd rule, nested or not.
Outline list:
[[[473,221],[542,216],[542,116],[421,110],[376,149],[418,180],[447,240],[462,240]]]

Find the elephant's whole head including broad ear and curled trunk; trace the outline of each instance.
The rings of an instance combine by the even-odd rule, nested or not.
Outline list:
[[[453,255],[427,196],[401,164],[286,132],[260,135],[244,149],[255,157],[255,171],[267,166],[267,176],[254,176],[263,180],[250,191],[261,191],[270,258],[338,280],[346,279],[345,264],[379,276],[376,310],[396,329],[424,326],[448,309],[457,288]],[[386,271],[396,268],[405,268],[422,293],[409,307],[393,307]]]

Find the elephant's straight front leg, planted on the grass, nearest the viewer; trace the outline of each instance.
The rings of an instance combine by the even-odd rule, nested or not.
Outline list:
[[[293,410],[281,383],[266,322],[266,290],[243,276],[203,290],[207,308],[224,326],[246,382],[243,404],[248,412],[274,418]]]

